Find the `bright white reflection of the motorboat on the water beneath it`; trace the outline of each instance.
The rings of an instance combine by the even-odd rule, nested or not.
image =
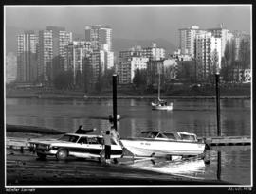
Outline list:
[[[139,168],[149,171],[155,171],[171,175],[190,176],[193,178],[203,178],[205,173],[205,162],[203,159],[169,161],[164,159],[137,160],[130,165],[133,168]]]

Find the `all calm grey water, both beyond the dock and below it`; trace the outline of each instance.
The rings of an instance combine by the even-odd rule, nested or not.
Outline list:
[[[120,99],[118,123],[121,137],[137,136],[146,129],[161,129],[170,132],[195,132],[198,136],[216,135],[215,101],[210,99],[176,99],[174,111],[152,111],[151,100]],[[8,124],[43,126],[64,132],[74,132],[79,125],[85,129],[110,127],[107,117],[112,114],[112,100],[66,100],[37,98],[8,98],[6,100],[6,122]],[[250,100],[221,100],[221,129],[225,135],[250,135]],[[217,179],[217,152],[221,152],[221,180],[244,185],[251,184],[251,149],[247,147],[222,147],[207,151],[210,164],[192,161],[173,164],[145,161],[136,168],[164,171],[165,173],[192,176],[198,179]],[[145,165],[146,163],[147,165]]]

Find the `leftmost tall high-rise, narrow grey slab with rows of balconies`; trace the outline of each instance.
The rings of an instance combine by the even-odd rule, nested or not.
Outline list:
[[[33,82],[37,79],[38,37],[34,31],[25,31],[17,39],[17,80]]]

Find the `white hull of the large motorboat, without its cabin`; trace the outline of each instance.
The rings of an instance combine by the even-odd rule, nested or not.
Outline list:
[[[195,156],[205,150],[204,143],[162,140],[121,139],[124,148],[136,156],[163,157],[167,155]]]

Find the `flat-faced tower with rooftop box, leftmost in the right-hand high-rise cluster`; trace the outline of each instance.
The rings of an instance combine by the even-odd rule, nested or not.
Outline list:
[[[199,26],[191,26],[179,29],[179,48],[182,55],[194,57],[194,41],[198,34],[205,33]]]

